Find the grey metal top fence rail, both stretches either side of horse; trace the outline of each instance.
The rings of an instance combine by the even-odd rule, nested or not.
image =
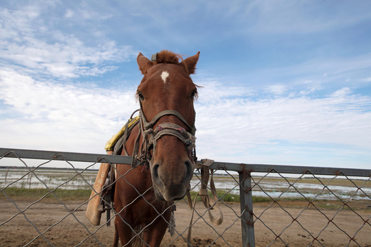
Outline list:
[[[0,148],[0,156],[19,158],[36,158],[58,161],[82,161],[82,162],[109,162],[118,164],[131,164],[131,156],[107,155],[107,154],[84,154],[76,152],[56,152],[41,150],[21,150]],[[201,161],[200,161],[201,162]],[[309,167],[300,165],[266,165],[214,162],[210,169],[225,169],[234,172],[279,172],[285,174],[317,174],[317,175],[346,175],[346,176],[371,176],[371,169],[351,169],[335,167]]]

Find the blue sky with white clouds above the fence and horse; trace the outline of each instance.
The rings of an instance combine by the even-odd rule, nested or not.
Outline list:
[[[201,52],[196,151],[371,169],[371,1],[0,0],[0,147],[104,154],[136,57]]]

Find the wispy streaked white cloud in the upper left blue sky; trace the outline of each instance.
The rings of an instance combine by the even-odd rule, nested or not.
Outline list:
[[[136,54],[130,46],[117,46],[115,41],[104,38],[102,43],[98,41],[89,46],[73,34],[54,30],[55,26],[38,18],[41,14],[42,10],[36,6],[13,11],[0,9],[3,23],[0,25],[0,59],[19,65],[19,69],[32,69],[35,75],[76,78],[111,71],[115,67],[110,63],[128,60]],[[73,14],[67,10],[67,16]],[[87,15],[82,16],[88,18]]]

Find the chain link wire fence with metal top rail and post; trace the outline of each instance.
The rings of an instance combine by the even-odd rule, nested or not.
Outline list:
[[[105,215],[100,226],[85,217],[102,162],[131,158],[0,148],[0,246],[111,246]],[[196,202],[192,222],[188,202],[175,202],[175,234],[161,246],[371,246],[370,169],[219,162],[210,169],[218,200],[207,208]],[[218,217],[217,207],[218,226],[208,216]]]

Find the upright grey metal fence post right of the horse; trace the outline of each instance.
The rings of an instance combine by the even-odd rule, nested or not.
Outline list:
[[[244,171],[239,173],[239,178],[243,247],[255,247],[251,175]]]

